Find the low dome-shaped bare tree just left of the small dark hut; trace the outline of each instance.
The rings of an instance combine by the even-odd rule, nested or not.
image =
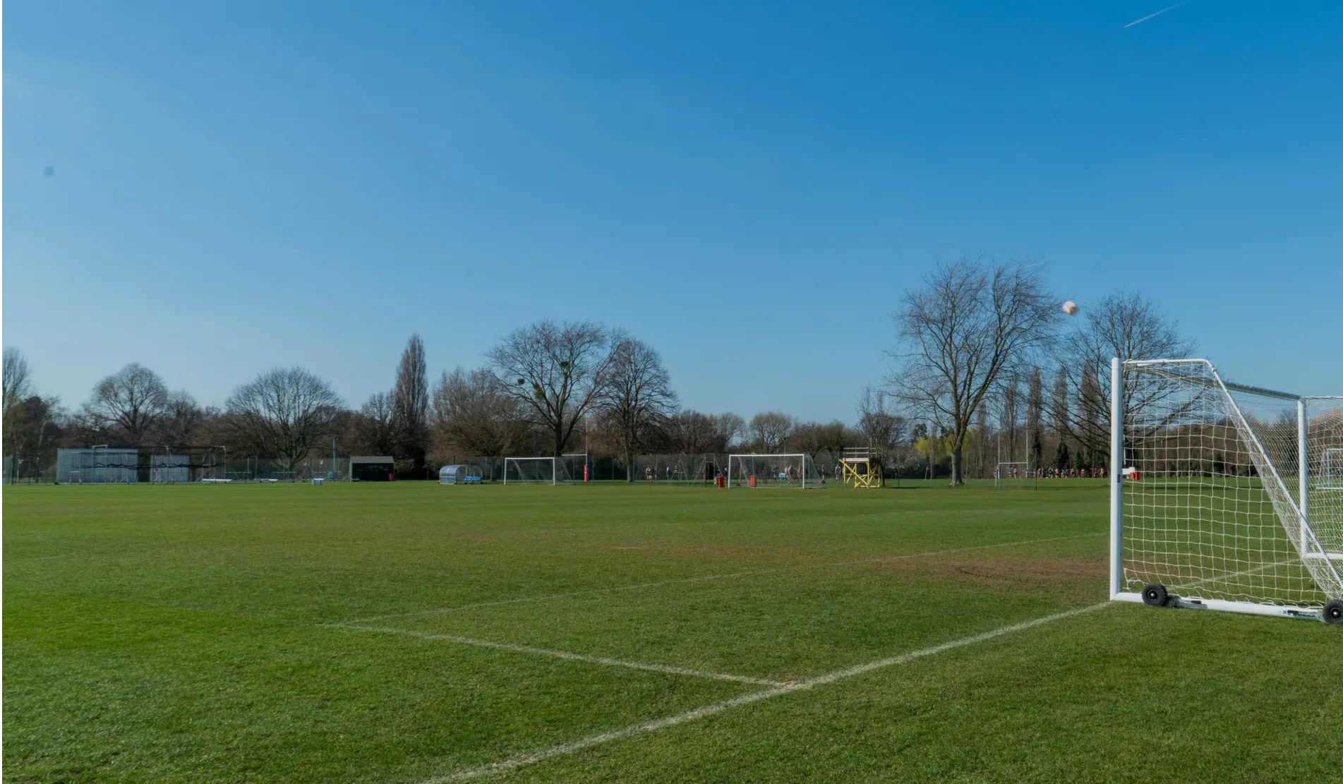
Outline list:
[[[285,458],[289,470],[330,432],[341,400],[302,368],[275,368],[234,389],[226,407],[239,440],[263,455]]]

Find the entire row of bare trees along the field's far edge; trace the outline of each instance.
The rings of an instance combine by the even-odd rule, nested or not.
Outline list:
[[[406,478],[473,456],[592,452],[619,456],[633,479],[637,454],[819,458],[869,446],[908,473],[927,464],[931,475],[945,462],[959,483],[967,469],[984,475],[990,452],[1005,450],[1037,466],[1105,464],[1109,357],[1194,348],[1139,294],[1112,294],[1069,321],[1038,264],[982,258],[937,267],[905,294],[894,326],[889,373],[862,391],[851,424],[682,408],[653,346],[587,321],[518,328],[481,366],[443,372],[432,384],[424,341],[412,334],[389,387],[357,408],[298,366],[259,373],[222,407],[200,405],[136,362],[67,408],[35,391],[21,352],[8,348],[4,454],[26,458],[20,473],[30,474],[50,471],[58,447],[97,444],[222,448],[293,470],[334,440],[341,454],[393,456]]]

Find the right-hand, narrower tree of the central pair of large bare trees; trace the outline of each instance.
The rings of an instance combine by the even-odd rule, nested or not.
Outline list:
[[[602,407],[619,442],[630,482],[634,482],[635,448],[661,431],[676,404],[672,377],[658,352],[633,337],[616,340]]]

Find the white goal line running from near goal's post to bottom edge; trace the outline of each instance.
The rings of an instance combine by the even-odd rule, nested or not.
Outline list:
[[[676,716],[669,716],[666,718],[659,718],[659,720],[655,720],[655,721],[647,721],[647,722],[643,722],[643,724],[635,724],[635,725],[627,726],[624,729],[618,729],[618,730],[606,732],[606,733],[600,733],[600,734],[595,734],[595,736],[588,736],[586,738],[579,738],[576,741],[569,741],[567,744],[560,744],[560,745],[549,746],[549,748],[545,748],[545,749],[535,749],[535,750],[530,750],[530,752],[522,752],[520,754],[513,754],[512,757],[505,757],[502,760],[498,760],[496,763],[490,763],[488,765],[481,765],[478,768],[465,768],[465,769],[457,771],[454,773],[447,773],[445,776],[436,776],[434,779],[427,779],[427,780],[422,781],[420,784],[450,784],[451,781],[466,781],[469,779],[479,779],[482,776],[493,776],[496,773],[505,773],[508,771],[513,771],[513,769],[521,768],[524,765],[532,765],[532,764],[540,763],[543,760],[549,760],[551,757],[559,757],[559,756],[563,756],[563,754],[572,754],[573,752],[580,752],[583,749],[588,749],[588,748],[592,748],[592,746],[596,746],[596,745],[600,745],[600,744],[606,744],[606,742],[611,742],[611,741],[618,741],[618,740],[627,738],[627,737],[631,737],[631,736],[635,736],[635,734],[642,734],[642,733],[649,733],[649,732],[657,732],[659,729],[667,729],[667,728],[672,728],[672,726],[677,726],[680,724],[686,724],[686,722],[690,722],[690,721],[705,718],[708,716],[714,716],[717,713],[723,713],[723,712],[731,710],[733,707],[740,707],[743,705],[749,705],[752,702],[759,702],[761,699],[768,699],[771,697],[779,697],[782,694],[791,694],[794,691],[802,691],[804,689],[811,689],[814,686],[823,686],[826,683],[834,683],[835,681],[842,681],[845,678],[853,678],[854,675],[862,675],[865,673],[870,673],[873,670],[880,670],[882,667],[892,667],[892,666],[896,666],[896,665],[904,665],[907,662],[912,662],[915,659],[921,659],[924,656],[932,656],[932,655],[936,655],[936,654],[940,654],[940,652],[944,652],[944,651],[950,651],[952,648],[959,648],[959,647],[963,647],[963,646],[972,646],[975,643],[982,643],[982,642],[986,642],[986,640],[991,640],[994,638],[999,638],[999,636],[1006,635],[1006,634],[1013,634],[1013,632],[1027,630],[1027,628],[1031,628],[1031,627],[1035,627],[1035,626],[1041,626],[1041,624],[1046,624],[1046,623],[1053,623],[1056,620],[1062,620],[1065,618],[1073,618],[1073,616],[1081,615],[1084,612],[1092,612],[1092,611],[1100,609],[1103,607],[1109,607],[1111,604],[1112,603],[1109,603],[1109,601],[1103,601],[1100,604],[1092,604],[1091,607],[1082,607],[1082,608],[1078,608],[1078,609],[1069,609],[1066,612],[1056,612],[1054,615],[1046,615],[1044,618],[1037,618],[1037,619],[1033,619],[1033,620],[1025,620],[1022,623],[1014,623],[1011,626],[1003,626],[1003,627],[995,628],[992,631],[986,631],[986,632],[982,632],[982,634],[964,636],[964,638],[950,640],[950,642],[945,642],[945,643],[941,643],[941,644],[936,644],[936,646],[932,646],[932,647],[928,647],[928,648],[920,648],[917,651],[911,651],[908,654],[900,654],[898,656],[890,656],[890,658],[886,658],[886,659],[878,659],[876,662],[869,662],[866,665],[858,665],[855,667],[846,667],[843,670],[835,670],[834,673],[827,673],[825,675],[818,675],[818,677],[807,679],[807,681],[799,681],[796,683],[787,683],[787,685],[779,686],[776,689],[767,689],[764,691],[755,691],[752,694],[744,694],[744,695],[737,697],[735,699],[727,699],[727,701],[723,701],[723,702],[714,702],[713,705],[705,705],[702,707],[696,707],[693,710],[688,710],[685,713],[678,713]]]

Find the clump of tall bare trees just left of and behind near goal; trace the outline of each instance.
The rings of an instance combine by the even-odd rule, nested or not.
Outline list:
[[[1136,293],[1065,315],[1031,260],[940,264],[905,294],[894,320],[889,387],[945,440],[952,485],[963,482],[972,435],[991,428],[1006,435],[1014,460],[1109,469],[1111,358],[1186,357],[1195,348]],[[984,448],[982,439],[976,446]]]

